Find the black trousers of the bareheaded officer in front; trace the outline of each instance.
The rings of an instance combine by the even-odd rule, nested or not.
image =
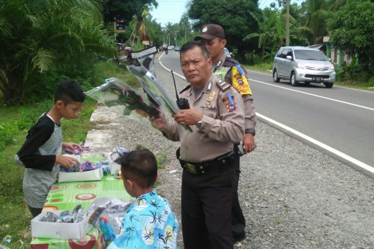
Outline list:
[[[234,167],[182,175],[182,231],[185,249],[233,249],[231,211]]]

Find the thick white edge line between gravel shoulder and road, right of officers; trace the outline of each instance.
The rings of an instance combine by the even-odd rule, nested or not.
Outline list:
[[[303,133],[301,133],[299,131],[296,131],[296,130],[292,129],[291,127],[288,127],[288,126],[286,126],[284,124],[281,124],[281,123],[279,123],[279,122],[277,122],[277,121],[275,121],[275,120],[273,120],[271,118],[268,118],[268,117],[266,117],[264,115],[261,115],[258,112],[256,112],[256,115],[259,116],[260,118],[263,118],[263,119],[271,122],[272,124],[275,124],[275,125],[283,128],[283,129],[285,129],[287,131],[292,132],[293,134],[295,134],[295,135],[297,135],[297,136],[299,136],[299,137],[301,137],[301,138],[303,138],[303,139],[305,139],[307,141],[310,141],[313,144],[316,144],[317,146],[319,146],[319,147],[321,147],[323,149],[328,150],[329,152],[334,153],[337,156],[340,156],[343,159],[346,159],[349,162],[352,162],[353,164],[355,164],[355,165],[357,165],[357,166],[359,166],[359,167],[361,167],[361,168],[363,168],[363,169],[365,169],[367,171],[370,171],[371,173],[374,173],[374,168],[373,167],[371,167],[371,166],[369,166],[369,165],[367,165],[367,164],[365,164],[365,163],[363,163],[361,161],[358,161],[357,159],[352,158],[351,156],[348,156],[347,154],[344,154],[343,152],[340,152],[339,150],[336,150],[336,149],[328,146],[327,144],[321,143],[320,141],[315,140],[314,138],[311,138],[311,137],[309,137],[309,136],[307,136],[307,135],[305,135],[305,134],[303,134]]]

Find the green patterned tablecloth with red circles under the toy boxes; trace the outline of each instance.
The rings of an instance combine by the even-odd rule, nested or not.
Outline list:
[[[95,162],[102,158],[86,158]],[[83,159],[82,159],[83,160]],[[77,181],[69,183],[55,183],[49,190],[43,212],[49,210],[73,210],[77,204],[82,204],[86,210],[88,206],[100,197],[113,197],[130,200],[131,196],[123,187],[122,179],[113,175],[104,175],[101,181]],[[93,228],[81,240],[61,240],[33,238],[30,246],[32,249],[96,249],[98,231]]]

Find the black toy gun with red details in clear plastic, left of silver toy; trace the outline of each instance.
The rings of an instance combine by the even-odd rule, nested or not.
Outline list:
[[[157,117],[160,114],[159,110],[145,103],[139,94],[128,87],[122,89],[120,87],[117,87],[113,82],[110,82],[105,85],[101,89],[101,91],[110,91],[111,93],[118,96],[117,98],[106,99],[105,105],[111,107],[116,105],[123,105],[124,103],[126,104],[126,109],[124,110],[123,115],[130,115],[130,113],[134,110],[144,117]]]

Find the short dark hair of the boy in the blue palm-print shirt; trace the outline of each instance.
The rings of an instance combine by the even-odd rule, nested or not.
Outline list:
[[[122,177],[135,181],[143,189],[156,182],[157,162],[148,149],[138,146],[135,150],[124,153],[116,163],[121,164]]]

